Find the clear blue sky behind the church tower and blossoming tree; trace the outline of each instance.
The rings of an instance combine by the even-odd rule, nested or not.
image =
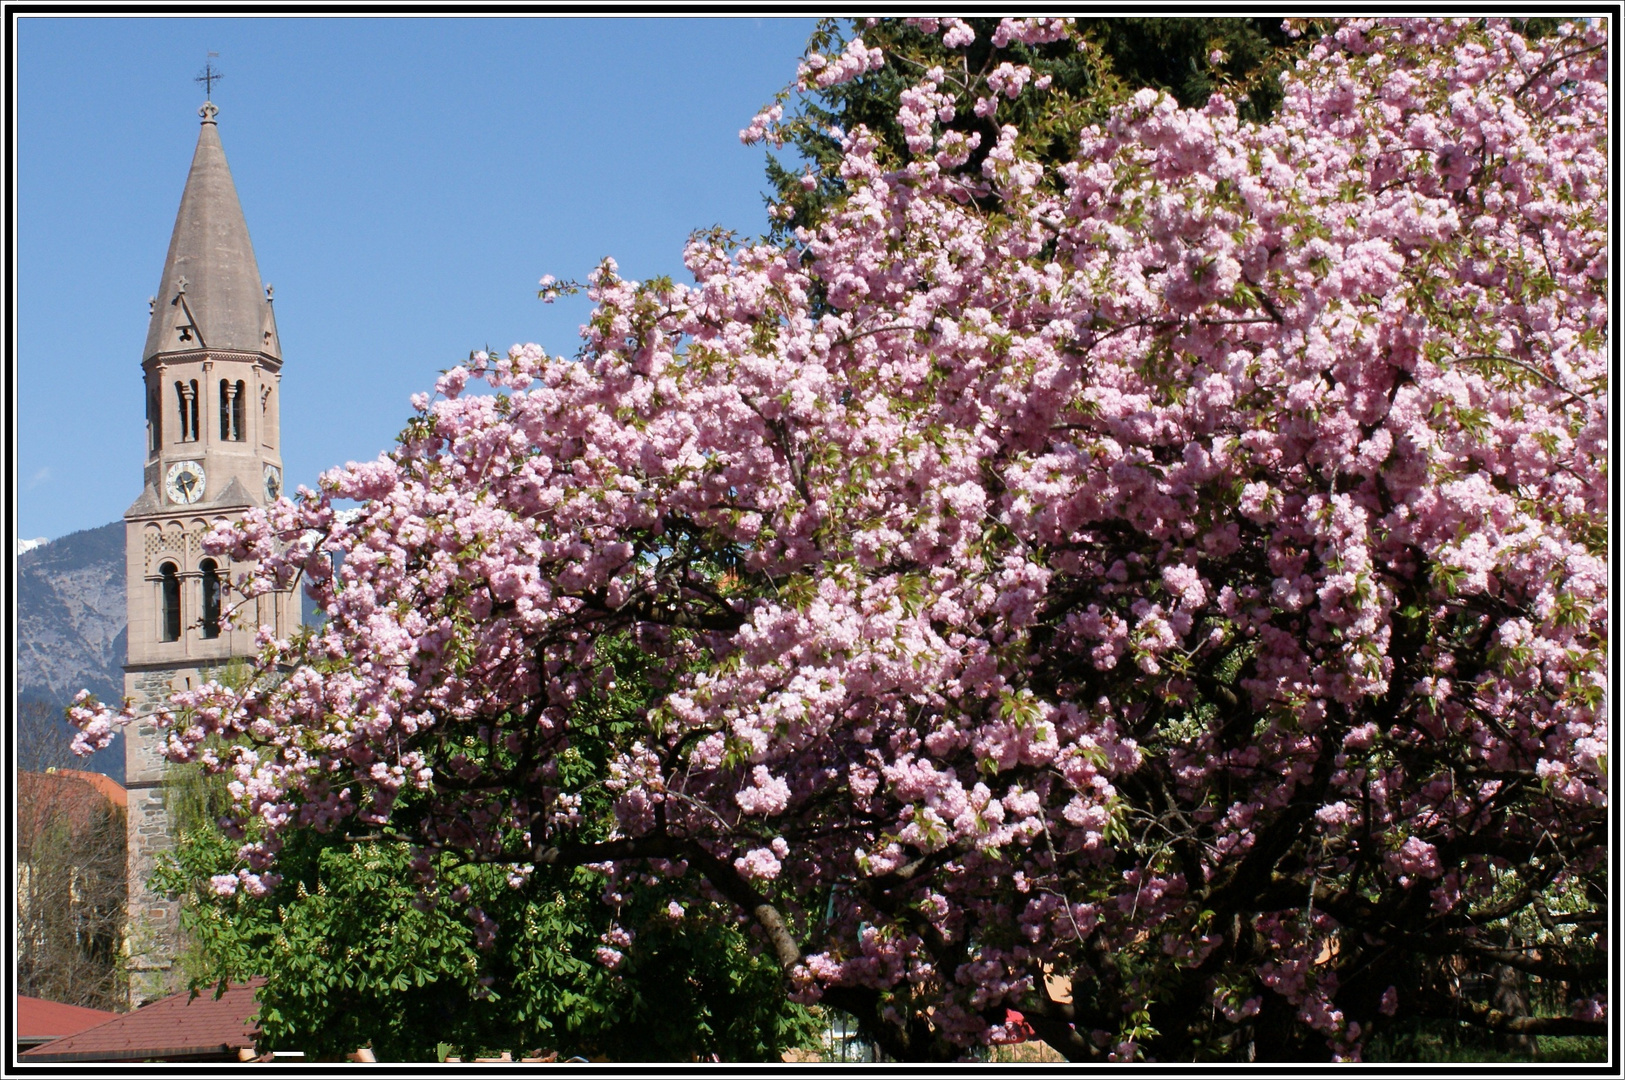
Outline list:
[[[283,341],[289,489],[385,450],[470,349],[572,354],[613,255],[686,279],[682,242],[767,227],[739,128],[811,19],[46,18],[18,21],[16,536],[140,494],[141,346],[197,143],[208,52]]]

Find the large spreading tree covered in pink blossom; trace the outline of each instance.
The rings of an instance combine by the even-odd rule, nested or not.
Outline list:
[[[1601,1033],[1604,47],[1346,23],[1271,122],[1146,91],[1060,169],[947,125],[1040,80],[920,70],[816,231],[606,260],[575,359],[474,354],[213,538],[327,612],[167,713],[224,885],[353,825],[689,882],[895,1057],[1009,1009],[1081,1061]],[[559,763],[618,679],[606,822]]]

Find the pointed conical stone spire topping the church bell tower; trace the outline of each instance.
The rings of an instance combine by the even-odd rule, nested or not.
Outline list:
[[[229,349],[281,361],[276,318],[219,145],[216,112],[213,102],[198,110],[203,117],[198,148],[169,237],[143,359],[159,352]]]

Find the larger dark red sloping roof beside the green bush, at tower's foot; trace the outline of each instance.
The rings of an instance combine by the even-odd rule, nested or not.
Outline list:
[[[29,1061],[151,1061],[232,1054],[258,1035],[254,992],[265,979],[213,991],[171,994],[99,1026],[24,1051]]]

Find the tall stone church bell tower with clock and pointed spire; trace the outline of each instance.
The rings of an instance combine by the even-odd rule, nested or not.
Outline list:
[[[200,115],[141,352],[145,489],[124,515],[130,642],[124,690],[143,715],[125,737],[132,1005],[182,986],[180,903],[148,887],[172,836],[164,736],[145,716],[172,690],[218,676],[232,658],[254,656],[258,627],[286,638],[299,625],[296,594],[234,603],[226,586],[244,567],[202,547],[214,525],[281,494],[283,352],[213,102]]]

